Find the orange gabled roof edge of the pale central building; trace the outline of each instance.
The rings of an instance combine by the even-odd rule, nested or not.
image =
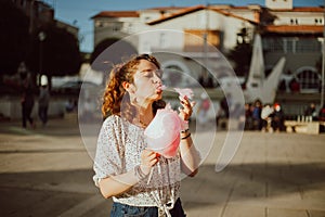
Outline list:
[[[171,15],[167,15],[167,16],[164,16],[161,18],[158,18],[158,20],[155,20],[155,21],[152,21],[152,22],[148,22],[147,24],[148,25],[156,25],[156,24],[159,24],[159,23],[162,23],[162,22],[166,22],[166,21],[169,21],[169,20],[172,20],[172,18],[176,18],[176,17],[180,17],[180,16],[183,16],[183,15],[186,15],[186,14],[190,14],[190,13],[193,13],[193,12],[196,12],[196,11],[200,11],[200,10],[204,10],[204,9],[209,9],[209,10],[212,10],[212,11],[216,11],[220,14],[223,14],[225,16],[232,16],[234,18],[239,18],[239,20],[243,20],[243,21],[247,21],[251,24],[257,24],[257,22],[255,21],[250,21],[248,18],[245,18],[243,16],[238,16],[238,15],[235,15],[233,13],[230,13],[230,12],[225,12],[221,9],[216,9],[216,8],[210,8],[210,7],[205,7],[205,5],[196,5],[196,7],[190,7],[190,8],[186,8],[184,10],[180,10],[178,13],[173,13]]]

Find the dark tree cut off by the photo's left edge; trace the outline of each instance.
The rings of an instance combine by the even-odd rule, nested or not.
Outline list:
[[[13,75],[25,61],[29,42],[29,20],[9,0],[0,1],[0,75]]]

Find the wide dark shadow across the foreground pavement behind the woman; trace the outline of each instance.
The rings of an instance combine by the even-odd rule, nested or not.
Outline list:
[[[324,195],[325,191],[324,163],[230,165],[221,173],[214,171],[214,165],[204,165],[199,170],[197,177],[182,182],[182,200],[188,210],[223,204],[230,196],[240,202],[312,190]],[[0,216],[57,216],[100,194],[92,176],[91,169],[1,174]],[[207,193],[218,194],[217,200],[196,197]],[[106,202],[83,216],[108,216],[110,200]]]

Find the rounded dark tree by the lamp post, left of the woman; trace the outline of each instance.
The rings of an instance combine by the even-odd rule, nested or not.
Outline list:
[[[81,65],[79,42],[66,29],[48,24],[32,34],[27,64],[30,71],[47,75],[49,80],[52,76],[76,75]]]

